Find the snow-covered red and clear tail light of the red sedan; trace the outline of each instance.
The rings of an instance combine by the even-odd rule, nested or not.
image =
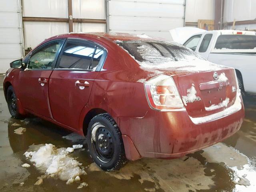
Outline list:
[[[144,83],[148,104],[159,111],[184,111],[184,104],[171,76],[155,76]]]

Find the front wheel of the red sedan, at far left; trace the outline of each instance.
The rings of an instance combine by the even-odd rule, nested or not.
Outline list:
[[[9,112],[12,115],[12,117],[22,118],[22,115],[18,111],[16,94],[12,86],[9,86],[6,91],[6,101],[7,101]]]

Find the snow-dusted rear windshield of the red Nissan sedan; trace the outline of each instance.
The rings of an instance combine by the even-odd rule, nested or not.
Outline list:
[[[174,42],[161,41],[116,41],[138,62],[163,63],[202,59],[194,51]]]

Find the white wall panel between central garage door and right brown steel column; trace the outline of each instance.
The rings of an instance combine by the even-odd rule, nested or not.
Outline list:
[[[198,19],[214,20],[214,0],[187,0],[186,22],[198,22]]]

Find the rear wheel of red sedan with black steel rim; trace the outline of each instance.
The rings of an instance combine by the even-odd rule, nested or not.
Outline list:
[[[122,134],[110,114],[103,113],[92,118],[87,142],[92,159],[103,170],[119,170],[126,164]]]

